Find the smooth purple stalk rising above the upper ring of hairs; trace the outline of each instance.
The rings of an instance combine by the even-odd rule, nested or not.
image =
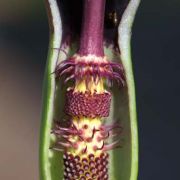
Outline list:
[[[80,37],[80,55],[104,56],[103,29],[106,0],[85,0]]]

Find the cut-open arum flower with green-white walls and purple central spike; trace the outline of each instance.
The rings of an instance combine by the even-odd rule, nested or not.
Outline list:
[[[42,180],[136,179],[128,43],[138,3],[47,1],[52,28],[41,129]]]

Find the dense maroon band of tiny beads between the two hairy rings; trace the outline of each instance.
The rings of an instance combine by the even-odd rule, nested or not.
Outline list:
[[[108,117],[110,111],[111,94],[80,93],[69,90],[66,93],[65,112],[73,117]]]

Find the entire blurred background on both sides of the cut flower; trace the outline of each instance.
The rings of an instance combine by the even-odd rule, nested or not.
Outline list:
[[[0,1],[0,179],[38,180],[48,49],[42,0]],[[140,137],[138,180],[178,180],[180,1],[143,0],[132,36]]]

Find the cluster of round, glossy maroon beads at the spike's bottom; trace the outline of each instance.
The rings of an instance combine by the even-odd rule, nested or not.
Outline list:
[[[80,159],[77,163],[76,156],[65,153],[64,160],[64,179],[99,179],[106,180],[108,177],[108,154],[101,153],[99,157],[90,160],[89,157]],[[91,167],[93,164],[93,167]]]

